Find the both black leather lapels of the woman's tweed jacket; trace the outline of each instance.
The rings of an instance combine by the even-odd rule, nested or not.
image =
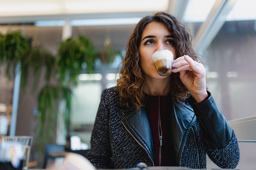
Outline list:
[[[172,123],[172,138],[175,149],[175,155],[177,157],[177,163],[179,165],[181,154],[188,137],[188,134],[192,128],[193,122],[196,120],[193,109],[184,104],[175,105],[173,102],[173,109],[171,111],[171,123]],[[123,124],[125,128],[130,132],[134,139],[146,149],[151,160],[154,160],[153,140],[150,130],[150,125],[147,119],[147,115],[144,107],[140,111],[134,111],[129,114],[124,120]]]

